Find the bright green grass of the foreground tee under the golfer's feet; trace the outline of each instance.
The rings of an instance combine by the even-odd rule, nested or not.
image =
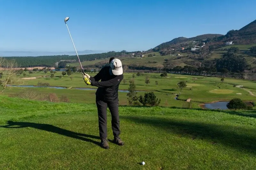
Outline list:
[[[95,104],[0,96],[0,169],[255,169],[255,112],[119,108],[125,145],[104,150]]]

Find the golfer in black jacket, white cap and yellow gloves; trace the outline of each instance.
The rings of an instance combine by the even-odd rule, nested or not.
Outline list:
[[[110,110],[112,120],[112,130],[114,143],[124,145],[120,139],[120,124],[118,114],[118,87],[123,80],[123,68],[119,59],[114,57],[109,60],[110,66],[103,67],[100,72],[92,77],[86,73],[83,74],[84,82],[87,85],[97,86],[96,105],[99,117],[100,146],[108,149],[108,132],[107,132],[107,107]],[[100,81],[101,80],[101,81]]]

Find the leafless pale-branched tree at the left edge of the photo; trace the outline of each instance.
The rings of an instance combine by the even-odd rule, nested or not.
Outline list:
[[[5,60],[4,58],[0,58],[0,67],[4,68],[4,72],[2,72],[0,76],[0,85],[3,87],[0,93],[2,93],[7,85],[17,84],[20,79],[16,76],[17,63],[15,60]]]

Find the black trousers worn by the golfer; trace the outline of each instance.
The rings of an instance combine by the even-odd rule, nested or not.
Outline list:
[[[111,124],[114,137],[120,134],[119,114],[118,114],[118,98],[114,101],[104,101],[96,98],[99,117],[100,139],[107,138],[107,107],[111,113]]]

